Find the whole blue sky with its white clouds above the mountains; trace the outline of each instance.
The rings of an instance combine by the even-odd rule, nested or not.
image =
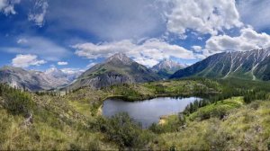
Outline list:
[[[0,0],[0,67],[86,69],[123,52],[151,67],[270,46],[268,0]]]

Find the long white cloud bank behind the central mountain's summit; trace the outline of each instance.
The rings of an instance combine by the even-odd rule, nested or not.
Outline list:
[[[122,52],[142,65],[152,67],[164,58],[193,59],[193,52],[178,45],[172,45],[163,40],[149,39],[142,44],[131,40],[104,42],[99,44],[82,43],[73,46],[76,55],[83,58],[108,58],[117,52]]]

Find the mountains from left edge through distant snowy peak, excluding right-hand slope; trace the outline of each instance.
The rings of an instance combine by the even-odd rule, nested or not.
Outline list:
[[[158,81],[162,77],[167,78],[180,67],[179,64],[166,59],[151,69],[133,61],[125,54],[118,53],[85,72],[67,72],[56,67],[51,67],[44,72],[19,67],[2,67],[0,82],[29,91],[64,88],[67,85],[69,89],[84,86],[98,89],[112,84]]]

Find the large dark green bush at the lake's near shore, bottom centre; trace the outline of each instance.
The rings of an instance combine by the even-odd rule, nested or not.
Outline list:
[[[114,141],[121,148],[145,147],[152,139],[151,133],[141,129],[127,113],[119,113],[110,119],[99,118],[94,123],[94,129],[103,132],[106,138]]]

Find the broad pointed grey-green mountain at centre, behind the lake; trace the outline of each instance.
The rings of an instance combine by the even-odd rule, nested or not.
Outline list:
[[[97,64],[79,76],[69,87],[83,86],[101,88],[112,84],[144,83],[160,80],[155,72],[140,65],[122,53],[113,55],[102,64]]]

